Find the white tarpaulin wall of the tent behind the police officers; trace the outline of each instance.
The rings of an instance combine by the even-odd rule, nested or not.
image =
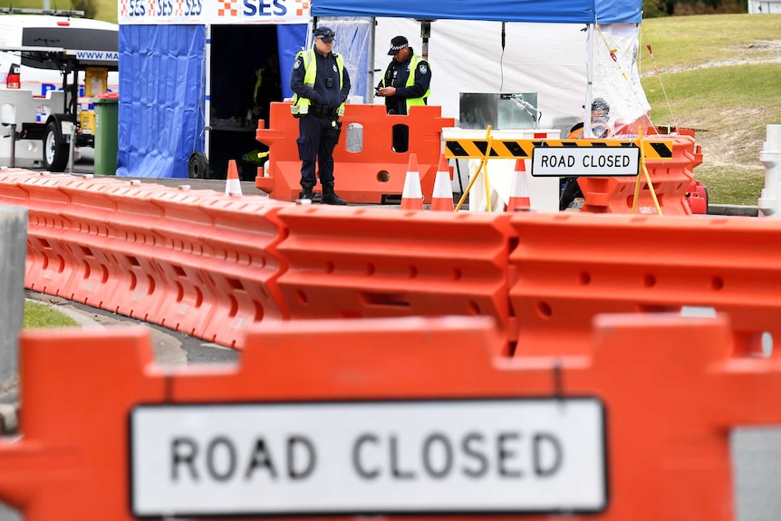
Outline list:
[[[537,92],[541,128],[580,121],[586,88],[586,33],[580,24],[502,24],[438,20],[431,24],[429,105],[458,119],[460,92]],[[390,39],[402,34],[423,53],[420,24],[404,18],[378,18],[374,83],[390,63]],[[378,98],[375,102],[382,103]]]

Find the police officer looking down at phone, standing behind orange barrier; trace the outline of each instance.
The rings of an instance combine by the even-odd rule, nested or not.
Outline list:
[[[385,75],[377,85],[378,96],[385,98],[389,114],[410,113],[412,105],[425,105],[431,95],[431,67],[429,62],[416,54],[407,38],[396,36],[390,40],[389,56],[393,56]],[[410,129],[406,125],[394,125],[393,150],[409,150]]]

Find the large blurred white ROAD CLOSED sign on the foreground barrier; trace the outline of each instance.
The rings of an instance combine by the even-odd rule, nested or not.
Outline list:
[[[130,412],[139,517],[593,513],[594,398],[145,405]]]

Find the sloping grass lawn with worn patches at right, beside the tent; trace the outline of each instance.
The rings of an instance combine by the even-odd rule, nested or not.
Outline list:
[[[781,14],[653,18],[641,44],[651,121],[696,130],[703,163],[694,176],[709,202],[757,205],[759,152],[767,125],[781,124]]]

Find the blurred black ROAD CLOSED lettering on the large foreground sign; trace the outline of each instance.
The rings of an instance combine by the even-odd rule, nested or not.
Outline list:
[[[362,432],[350,446],[343,468],[358,478],[374,480],[448,479],[460,475],[480,479],[550,478],[562,468],[564,447],[551,432],[465,432],[452,436],[432,432],[422,439],[398,434]],[[200,441],[178,436],[170,443],[170,478],[184,481],[312,478],[318,471],[316,439],[291,435],[278,443],[264,436],[247,445],[220,435]]]

